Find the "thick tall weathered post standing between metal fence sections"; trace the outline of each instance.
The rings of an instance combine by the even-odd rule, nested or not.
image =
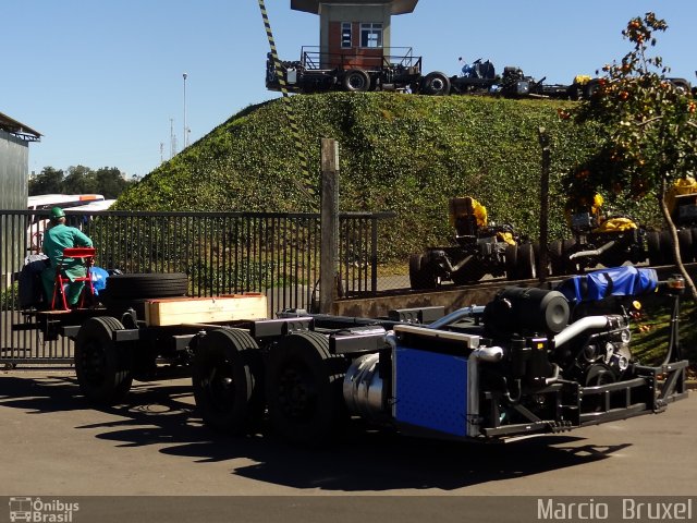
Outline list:
[[[339,144],[321,141],[319,312],[331,314],[339,259]]]

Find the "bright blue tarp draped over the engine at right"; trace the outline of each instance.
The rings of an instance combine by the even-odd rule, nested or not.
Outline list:
[[[562,281],[557,290],[571,303],[592,302],[609,296],[638,296],[653,292],[656,270],[634,266],[600,269]]]

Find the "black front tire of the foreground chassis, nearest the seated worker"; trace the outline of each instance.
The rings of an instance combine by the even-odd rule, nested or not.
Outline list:
[[[131,351],[113,341],[123,325],[109,316],[89,318],[75,339],[75,374],[80,390],[91,403],[112,405],[126,396],[133,382]]]

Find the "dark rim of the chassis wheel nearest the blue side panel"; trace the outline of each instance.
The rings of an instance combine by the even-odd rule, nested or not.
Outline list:
[[[315,412],[317,389],[309,369],[298,362],[286,366],[279,376],[279,405],[292,419],[306,422]]]

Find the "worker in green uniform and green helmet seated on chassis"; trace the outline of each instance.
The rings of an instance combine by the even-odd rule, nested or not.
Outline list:
[[[63,250],[70,247],[91,247],[89,236],[80,229],[65,224],[65,211],[63,209],[53,207],[50,217],[51,223],[48,231],[44,234],[42,250],[44,254],[50,259],[51,265],[41,272],[41,282],[44,283],[44,291],[46,292],[49,306],[53,297],[56,268],[58,267],[60,258],[63,256]],[[63,267],[65,276],[71,280],[65,291],[65,299],[72,307],[77,304],[80,293],[85,287],[84,281],[74,281],[74,279],[86,276],[87,269],[81,259],[73,258],[65,258],[63,260]]]

